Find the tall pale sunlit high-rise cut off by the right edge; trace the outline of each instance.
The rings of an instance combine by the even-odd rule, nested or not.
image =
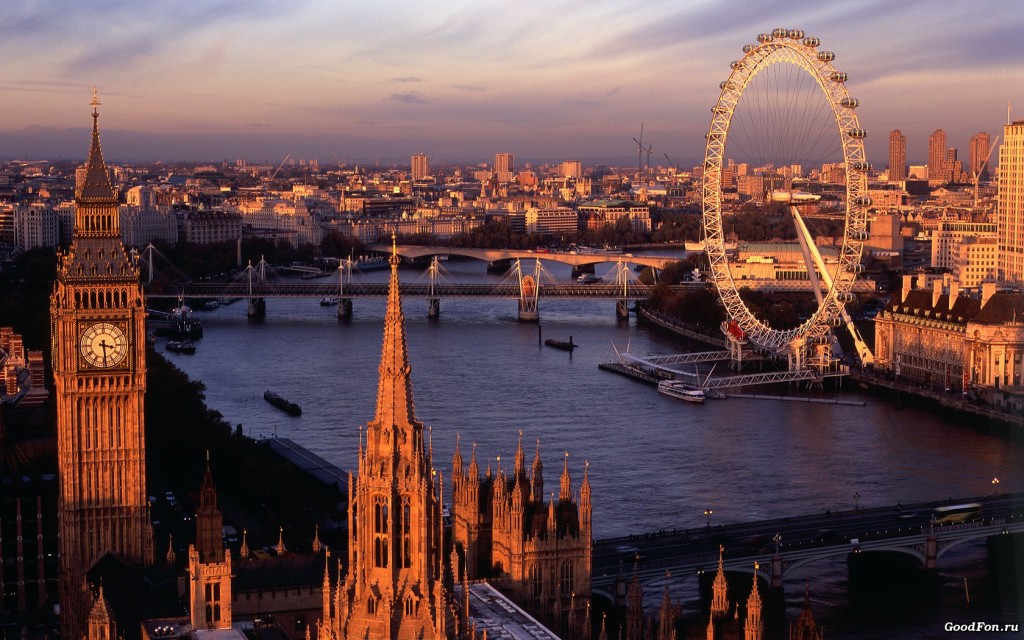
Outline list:
[[[1024,283],[1024,120],[1002,128],[999,145],[999,280]]]

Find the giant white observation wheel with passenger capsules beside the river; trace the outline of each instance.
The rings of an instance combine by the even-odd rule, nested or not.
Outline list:
[[[852,288],[863,270],[860,262],[867,240],[867,173],[870,169],[856,109],[858,100],[847,93],[845,73],[833,67],[835,53],[819,51],[817,38],[799,30],[775,29],[761,34],[757,44],[743,47],[743,57],[733,61],[732,73],[720,85],[712,109],[711,129],[703,161],[703,229],[711,274],[725,307],[723,325],[732,342],[746,342],[775,355],[796,354],[799,360],[808,345],[826,341],[833,328],[846,324],[854,334],[858,355],[869,357],[845,304],[853,300]],[[730,131],[730,128],[732,129]],[[728,143],[728,147],[727,147]],[[736,160],[741,159],[740,163]],[[728,163],[728,164],[726,164]],[[827,257],[800,209],[814,205],[821,195],[798,187],[805,170],[842,176],[844,189],[831,195],[833,215],[842,220]],[[723,224],[723,179],[760,171],[762,190],[756,197],[781,203],[793,217],[807,280],[816,308],[796,327],[776,329],[760,319],[740,298],[737,280],[730,270]],[[745,176],[744,176],[745,177]],[[728,189],[733,200],[737,194]],[[828,195],[826,195],[828,196]],[[728,213],[728,212],[727,212]]]

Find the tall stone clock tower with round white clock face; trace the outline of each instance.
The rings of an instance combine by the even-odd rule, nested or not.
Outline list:
[[[111,553],[153,562],[145,493],[145,304],[121,244],[118,199],[99,146],[75,193],[71,247],[50,296],[60,478],[60,623],[81,638],[92,603],[86,572]]]

